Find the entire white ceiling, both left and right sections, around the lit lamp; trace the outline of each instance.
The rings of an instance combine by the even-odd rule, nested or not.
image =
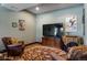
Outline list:
[[[78,4],[80,3],[4,3],[1,6],[13,11],[21,11],[21,10],[26,9],[28,11],[31,11],[32,13],[39,14],[39,13],[69,8],[69,7],[78,6]],[[35,10],[36,7],[40,8],[39,11]]]

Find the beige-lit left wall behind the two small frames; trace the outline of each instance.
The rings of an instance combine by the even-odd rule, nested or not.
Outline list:
[[[20,19],[25,20],[25,31],[19,31],[19,28],[12,28],[12,22],[19,22]],[[3,47],[1,37],[13,36],[25,42],[35,41],[35,15],[25,12],[10,11],[0,7],[0,50]]]

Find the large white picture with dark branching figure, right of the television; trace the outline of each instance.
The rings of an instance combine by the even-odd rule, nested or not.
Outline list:
[[[65,32],[76,32],[77,31],[77,17],[73,15],[66,18],[65,21]]]

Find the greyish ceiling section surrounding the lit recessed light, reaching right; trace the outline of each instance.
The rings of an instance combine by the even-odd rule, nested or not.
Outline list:
[[[42,3],[42,4],[37,6],[40,8],[39,11],[35,10],[35,7],[29,8],[28,10],[33,12],[33,13],[44,13],[44,12],[50,12],[53,10],[58,10],[58,9],[78,6],[78,4],[79,3]]]

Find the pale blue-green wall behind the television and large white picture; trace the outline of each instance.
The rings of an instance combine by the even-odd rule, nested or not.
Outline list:
[[[69,34],[83,36],[83,8],[84,6],[80,4],[36,15],[36,41],[42,41],[43,24],[64,23],[65,19],[70,15],[77,15],[77,32]]]

